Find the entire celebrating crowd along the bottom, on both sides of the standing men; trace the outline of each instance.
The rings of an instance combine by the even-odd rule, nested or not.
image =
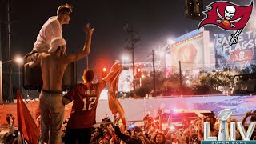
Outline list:
[[[39,112],[38,112],[39,113]],[[40,117],[40,114],[36,114]],[[163,127],[161,121],[162,110],[158,111],[160,116],[159,122],[154,122],[154,118],[150,116],[150,113],[146,113],[143,118],[143,126],[123,126],[120,118],[114,117],[111,121],[106,114],[102,119],[100,125],[90,126],[87,133],[75,130],[77,137],[74,135],[70,137],[67,135],[67,124],[69,119],[66,119],[62,125],[62,143],[93,143],[93,144],[199,144],[204,140],[203,122],[210,123],[210,136],[218,138],[219,122],[217,116],[206,116],[205,118],[183,118],[182,126],[174,126],[170,123],[169,126]],[[250,119],[249,119],[250,118]],[[88,118],[85,118],[88,119]],[[94,119],[94,118],[92,118]],[[256,110],[249,110],[244,117],[236,119],[231,117],[228,119],[228,130],[230,133],[230,122],[242,122],[245,131],[248,129],[248,123],[256,122]],[[16,144],[18,139],[18,130],[14,127],[15,117],[12,114],[6,115],[6,124],[8,129],[0,131],[0,143]],[[40,121],[39,121],[40,122]],[[94,122],[93,122],[94,123]],[[38,126],[39,128],[39,126]],[[81,141],[81,137],[90,138],[90,142]],[[238,128],[235,131],[236,140],[242,140],[241,134]],[[73,142],[70,142],[70,138],[73,138]],[[256,129],[250,138],[250,140],[256,140]],[[39,138],[38,138],[39,142]]]

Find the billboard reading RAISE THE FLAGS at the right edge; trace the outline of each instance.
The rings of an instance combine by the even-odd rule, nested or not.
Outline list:
[[[231,32],[228,31],[214,34],[216,69],[227,67],[242,69],[255,65],[256,30],[243,30],[238,37],[239,42],[232,46],[229,45],[230,34]]]

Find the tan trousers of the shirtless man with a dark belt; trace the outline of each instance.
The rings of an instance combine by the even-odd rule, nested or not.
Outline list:
[[[39,109],[41,113],[41,142],[60,144],[64,118],[64,104],[62,94],[41,92],[39,95]]]

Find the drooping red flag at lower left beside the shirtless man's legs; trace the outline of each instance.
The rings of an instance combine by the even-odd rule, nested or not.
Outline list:
[[[17,117],[18,117],[18,130],[23,135],[23,141],[29,143],[38,143],[39,130],[36,126],[30,111],[22,100],[22,96],[18,90],[17,93]],[[24,142],[22,142],[24,143]]]

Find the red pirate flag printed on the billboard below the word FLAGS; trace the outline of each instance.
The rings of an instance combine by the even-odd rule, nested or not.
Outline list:
[[[229,62],[236,62],[239,65],[246,65],[254,56],[254,50],[234,50],[230,54]]]

